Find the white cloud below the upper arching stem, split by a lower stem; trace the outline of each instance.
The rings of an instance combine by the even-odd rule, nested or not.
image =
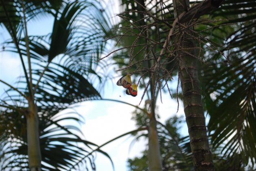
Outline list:
[[[88,119],[86,124],[82,126],[88,141],[102,145],[121,134],[136,129],[135,121],[130,119],[134,110],[133,107],[115,102],[104,102],[104,105],[102,102],[92,103],[94,103],[95,108],[92,113],[85,117],[90,117],[89,115],[98,115],[98,117]],[[102,113],[102,108],[104,108],[104,113]],[[97,111],[97,109],[99,110]],[[141,150],[144,149],[144,143],[135,143],[129,153],[129,146],[133,139],[132,136],[124,136],[102,147],[111,156],[116,171],[125,171],[127,158],[140,155]],[[137,150],[138,147],[140,150]],[[112,170],[108,158],[99,154],[96,159],[96,167],[98,171]]]

